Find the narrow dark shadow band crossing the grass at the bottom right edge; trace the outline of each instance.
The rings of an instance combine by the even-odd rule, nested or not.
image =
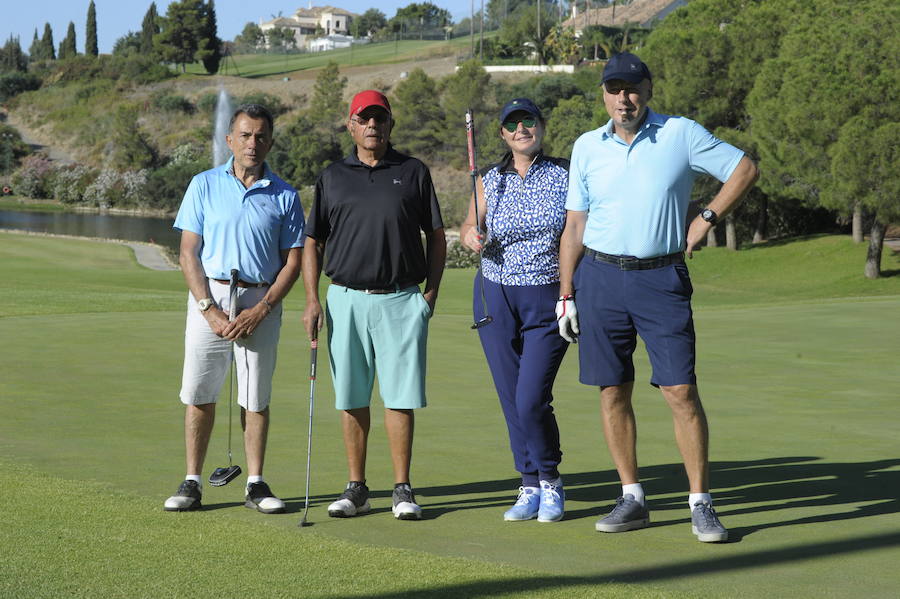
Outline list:
[[[648,568],[633,568],[630,570],[610,571],[608,574],[597,576],[535,576],[516,580],[486,580],[468,582],[457,585],[447,585],[440,588],[422,588],[405,592],[390,592],[382,594],[366,593],[369,599],[437,599],[440,597],[467,597],[477,599],[479,597],[492,597],[503,593],[510,594],[521,592],[523,596],[528,593],[554,587],[567,587],[577,590],[578,587],[595,586],[613,583],[652,583],[667,580],[675,580],[698,574],[710,574],[717,572],[735,572],[760,568],[772,564],[784,566],[792,562],[803,562],[816,558],[834,557],[841,554],[872,551],[886,547],[900,545],[900,532],[890,532],[878,535],[868,535],[832,541],[829,543],[808,543],[795,545],[784,549],[755,551],[741,555],[709,558],[697,560],[684,560],[674,562],[666,566],[653,566]],[[333,595],[333,597],[362,597],[363,595],[349,595],[347,593]]]

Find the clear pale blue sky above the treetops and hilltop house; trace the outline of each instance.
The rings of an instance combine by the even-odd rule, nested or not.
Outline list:
[[[94,0],[97,7],[97,42],[101,53],[112,52],[113,44],[128,31],[140,31],[144,13],[152,0]],[[172,0],[156,0],[156,9],[165,14]],[[415,0],[320,0],[314,6],[336,6],[357,14],[369,8],[377,8],[388,18],[397,9]],[[431,0],[445,8],[458,22],[469,15],[470,0]],[[90,0],[0,0],[0,44],[9,39],[10,34],[19,36],[22,50],[28,52],[34,30],[38,37],[44,33],[44,23],[53,29],[53,43],[59,50],[59,42],[66,36],[69,21],[75,23],[75,38],[78,52],[84,51],[84,29]],[[485,2],[487,4],[487,2]],[[301,6],[309,6],[302,0],[215,0],[219,37],[234,39],[248,21],[259,23],[260,18],[269,20],[280,12],[289,16]],[[476,0],[475,10],[479,10],[481,0]]]

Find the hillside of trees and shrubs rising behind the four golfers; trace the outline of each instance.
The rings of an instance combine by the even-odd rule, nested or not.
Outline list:
[[[589,4],[611,9],[613,3]],[[454,24],[439,6],[412,3],[392,17],[372,8],[351,28],[371,36],[367,51],[396,51],[401,37],[417,34],[426,44],[422,52],[453,48],[455,72],[427,66],[438,63],[423,62],[430,60],[423,54],[376,75],[360,66],[366,55],[360,50],[352,67],[330,62],[309,74],[259,79],[185,74],[217,73],[241,49],[265,51],[266,36],[253,24],[233,41],[220,40],[212,0],[172,2],[165,14],[150,3],[112,55],[92,52],[93,2],[88,15],[84,52],[74,26],[57,46],[49,24],[35,28],[27,54],[18,38],[0,47],[0,104],[78,158],[78,164],[53,164],[0,124],[0,178],[20,194],[73,205],[174,209],[190,176],[210,166],[219,85],[236,101],[273,108],[278,145],[270,160],[302,189],[348,150],[345,105],[358,86],[367,86],[390,97],[395,145],[432,166],[446,220],[455,225],[468,194],[466,108],[476,108],[482,166],[502,153],[495,115],[516,96],[531,97],[544,110],[546,151],[568,156],[581,133],[608,119],[599,87],[605,59],[629,50],[654,74],[655,110],[697,120],[759,163],[759,185],[708,243],[737,248],[848,231],[857,241],[868,236],[864,272],[877,277],[885,232],[900,222],[900,5],[891,0],[691,0],[645,26],[585,19],[578,36],[564,25],[569,15],[559,5],[491,0],[484,37],[478,13],[476,21]],[[445,37],[475,36],[428,46],[424,40],[437,29]],[[389,41],[379,45],[378,39]],[[346,56],[325,54],[320,64]],[[509,62],[577,68],[518,76],[484,68]],[[699,180],[698,205],[717,187]]]

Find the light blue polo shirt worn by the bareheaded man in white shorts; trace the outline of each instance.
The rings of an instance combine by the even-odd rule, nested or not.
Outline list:
[[[300,197],[268,165],[246,189],[233,161],[191,179],[174,226],[203,237],[200,261],[207,277],[228,279],[237,268],[243,281],[272,283],[283,266],[281,250],[303,247]]]

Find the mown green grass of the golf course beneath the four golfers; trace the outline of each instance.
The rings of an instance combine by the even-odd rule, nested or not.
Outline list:
[[[244,508],[243,478],[205,485],[201,512],[166,513],[184,474],[181,273],[144,269],[116,244],[0,233],[0,597],[894,596],[900,257],[887,250],[890,276],[867,281],[865,251],[818,237],[704,249],[690,262],[713,492],[732,537],[712,545],[690,532],[671,418],[642,350],[635,409],[652,526],[594,531],[619,487],[576,348],[554,403],[566,517],[502,521],[518,482],[469,330],[471,270],[447,271],[432,320],[412,480],[423,521],[391,516],[380,407],[373,513],[327,517],[346,467],[326,348],[312,526],[297,527],[309,397],[299,286],[286,303],[266,464],[289,513]],[[226,407],[204,475],[226,461]],[[235,458],[244,464],[240,449]]]

